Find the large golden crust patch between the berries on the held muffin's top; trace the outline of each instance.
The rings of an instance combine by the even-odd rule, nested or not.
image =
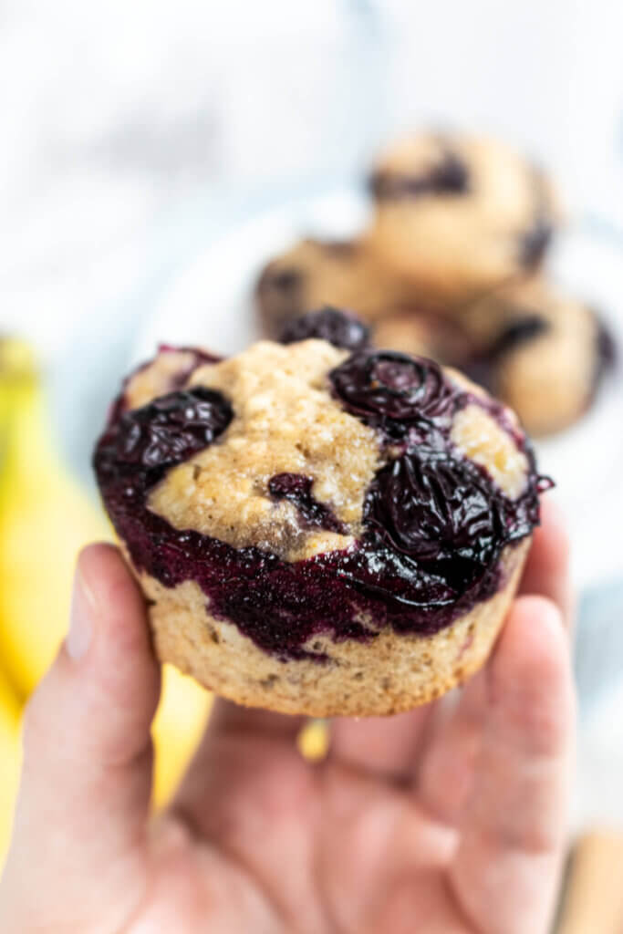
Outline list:
[[[383,461],[376,432],[331,394],[327,375],[347,356],[326,341],[262,341],[195,370],[191,386],[221,390],[235,417],[218,445],[167,474],[149,508],[177,529],[289,561],[351,545],[361,531],[365,490]],[[292,503],[273,502],[268,481],[287,473],[313,477],[315,498],[350,534],[305,530]]]

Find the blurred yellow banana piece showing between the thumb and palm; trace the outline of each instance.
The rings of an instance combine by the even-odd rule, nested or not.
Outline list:
[[[171,800],[205,729],[208,691],[172,665],[163,666],[163,693],[151,727],[155,749],[152,802]]]

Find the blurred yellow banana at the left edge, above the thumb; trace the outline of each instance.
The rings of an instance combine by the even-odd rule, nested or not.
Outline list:
[[[110,539],[56,454],[32,354],[0,341],[0,665],[27,697],[67,628],[78,549]]]

